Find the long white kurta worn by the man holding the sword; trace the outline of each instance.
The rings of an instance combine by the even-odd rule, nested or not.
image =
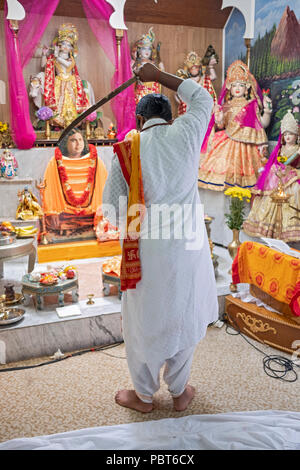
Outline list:
[[[175,234],[171,239],[164,239],[166,232],[159,237],[157,230],[154,230],[156,239],[151,239],[153,226],[149,226],[149,219],[145,218],[142,224],[142,280],[136,289],[123,293],[122,320],[127,350],[146,363],[170,358],[198,343],[205,335],[207,325],[218,319],[216,282],[204,214],[203,210],[200,214],[197,212],[200,149],[213,100],[191,79],[182,82],[178,95],[188,105],[186,114],[175,119],[172,125],[147,129],[165,122],[150,119],[143,127],[147,130],[141,132],[145,205],[148,214],[153,207],[157,209],[157,204],[186,207],[182,233],[186,233],[183,225],[187,221],[195,223],[197,219],[197,235],[204,243],[200,249],[190,250],[184,237],[178,239]],[[119,196],[126,195],[127,189],[114,156],[103,202],[117,207]],[[178,230],[180,217],[176,220]]]

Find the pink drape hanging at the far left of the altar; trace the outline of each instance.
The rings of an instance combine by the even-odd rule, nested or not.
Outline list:
[[[30,120],[28,93],[23,68],[31,59],[59,0],[22,0],[26,16],[19,22],[17,35],[12,31],[5,2],[5,42],[9,82],[10,123],[15,144],[20,149],[33,146],[36,135]]]

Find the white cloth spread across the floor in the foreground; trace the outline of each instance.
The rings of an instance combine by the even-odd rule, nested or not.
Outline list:
[[[0,451],[300,450],[299,442],[300,413],[270,409],[183,416],[20,437],[1,442]]]

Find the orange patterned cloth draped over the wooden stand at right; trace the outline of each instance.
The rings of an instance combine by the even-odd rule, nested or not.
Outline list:
[[[232,282],[253,284],[300,316],[300,259],[261,243],[244,242],[232,264]]]

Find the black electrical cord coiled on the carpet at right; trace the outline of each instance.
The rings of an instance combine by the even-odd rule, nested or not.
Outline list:
[[[272,355],[269,356],[266,354],[264,351],[259,349],[257,346],[255,346],[249,339],[243,335],[241,330],[239,329],[238,325],[236,322],[233,320],[233,318],[226,312],[226,315],[228,319],[232,322],[232,324],[227,324],[226,325],[226,333],[229,335],[241,335],[242,338],[244,338],[245,341],[247,341],[250,346],[252,346],[254,349],[256,349],[258,352],[264,355],[263,358],[263,369],[264,372],[269,376],[272,377],[273,379],[279,379],[283,380],[284,382],[296,382],[298,380],[298,374],[295,370],[294,367],[300,368],[300,365],[296,364],[294,361],[291,359],[288,359],[284,356],[277,356],[277,355]],[[228,328],[232,328],[235,333],[229,333]],[[280,366],[280,369],[277,369],[277,366]],[[276,367],[276,368],[275,368]],[[292,373],[292,377],[286,378],[288,373]]]

